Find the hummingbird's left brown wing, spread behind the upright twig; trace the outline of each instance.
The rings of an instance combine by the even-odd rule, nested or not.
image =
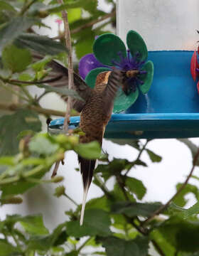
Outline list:
[[[36,53],[33,54],[33,59],[38,61],[41,60],[43,56],[38,55]],[[62,64],[58,63],[55,60],[51,60],[47,65],[48,68],[51,68],[48,75],[45,77],[45,80],[48,80],[48,84],[53,87],[65,87],[68,86],[68,68],[65,68]],[[84,107],[85,102],[91,97],[92,89],[87,86],[84,80],[80,78],[79,75],[74,73],[74,87],[75,90],[80,97],[84,101],[72,99],[72,107],[78,112],[82,111],[82,107]],[[67,96],[62,96],[63,100],[67,100]]]

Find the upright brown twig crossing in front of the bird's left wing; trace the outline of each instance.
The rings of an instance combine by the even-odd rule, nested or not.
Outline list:
[[[59,4],[63,4],[63,0],[57,0]],[[64,34],[65,34],[65,44],[68,48],[68,89],[71,90],[74,87],[73,82],[73,65],[72,65],[72,44],[70,38],[70,27],[68,23],[68,13],[66,11],[62,11],[63,23],[64,23]],[[65,133],[68,131],[68,122],[70,122],[70,112],[72,108],[72,98],[68,96],[67,100],[67,108],[65,113],[65,120],[63,124],[63,130]]]

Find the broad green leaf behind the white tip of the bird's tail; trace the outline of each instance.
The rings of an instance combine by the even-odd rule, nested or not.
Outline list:
[[[75,238],[81,238],[85,235],[107,236],[111,235],[109,225],[111,225],[111,220],[108,213],[101,209],[92,208],[85,210],[85,219],[82,226],[80,226],[78,220],[68,222],[67,233]]]

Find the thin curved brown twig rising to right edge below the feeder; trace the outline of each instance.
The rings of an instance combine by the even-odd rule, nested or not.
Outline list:
[[[153,220],[156,215],[160,214],[164,209],[166,209],[166,208],[169,206],[169,204],[171,203],[171,201],[173,201],[173,199],[176,198],[176,196],[178,196],[178,195],[181,193],[181,191],[183,191],[183,189],[184,189],[185,186],[187,185],[187,183],[188,183],[190,177],[191,177],[192,174],[193,174],[193,171],[194,171],[194,169],[195,169],[195,165],[196,165],[196,163],[197,163],[197,161],[198,161],[198,157],[199,157],[199,149],[198,149],[198,151],[197,151],[197,154],[195,154],[195,156],[194,156],[194,159],[193,159],[193,166],[192,166],[192,168],[191,168],[191,170],[190,170],[190,174],[188,174],[188,176],[187,176],[187,178],[185,179],[185,181],[184,181],[183,185],[181,186],[181,188],[178,189],[178,191],[172,196],[172,198],[171,198],[170,200],[168,200],[168,202],[167,202],[166,204],[164,204],[163,206],[161,206],[160,208],[158,208],[158,210],[154,211],[154,213],[153,213],[149,218],[147,218],[146,220],[144,220],[143,223],[142,223],[142,225],[145,225],[146,223],[149,223],[149,221]]]

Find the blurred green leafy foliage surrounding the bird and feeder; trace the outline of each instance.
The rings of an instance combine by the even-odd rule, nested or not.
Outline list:
[[[176,194],[172,203],[166,204],[166,208],[162,210],[163,215],[154,214],[156,210],[160,211],[163,205],[154,199],[153,202],[152,199],[147,201],[145,195],[148,187],[146,188],[144,177],[152,176],[151,181],[154,184],[159,175],[151,171],[149,174],[150,169],[147,166],[153,163],[157,166],[162,160],[161,156],[158,156],[161,149],[155,150],[158,154],[151,151],[150,144],[157,145],[156,142],[132,141],[131,146],[134,149],[128,148],[132,156],[125,160],[113,159],[109,145],[107,147],[110,155],[100,156],[97,144],[79,144],[77,134],[65,137],[40,133],[42,116],[46,119],[62,116],[64,112],[56,111],[55,104],[51,102],[46,110],[43,102],[49,99],[47,91],[20,82],[45,80],[50,71],[46,63],[52,58],[51,55],[66,62],[61,29],[53,39],[43,38],[36,33],[39,28],[46,28],[46,17],[50,19],[51,16],[55,17],[54,15],[60,16],[62,9],[68,10],[72,45],[77,57],[74,65],[77,71],[77,61],[85,53],[92,52],[95,36],[115,30],[115,4],[112,0],[107,0],[107,3],[112,6],[108,14],[97,9],[95,0],[68,0],[63,6],[58,5],[56,1],[50,1],[48,5],[36,0],[0,1],[1,209],[5,209],[8,204],[18,204],[24,200],[22,206],[25,205],[26,210],[31,213],[25,216],[7,215],[1,219],[0,256],[155,255],[149,247],[154,247],[158,255],[199,255],[199,193],[198,187],[195,186],[198,182],[196,171],[193,176],[195,183],[193,178],[188,180],[190,183],[183,183],[185,178],[179,177],[176,188],[181,193]],[[101,20],[104,23],[99,22]],[[48,55],[48,58],[33,64],[31,50]],[[46,126],[43,127],[46,130]],[[188,146],[193,158],[195,157],[195,169],[198,165],[197,146],[188,140],[181,142]],[[172,142],[168,144],[168,147],[172,148]],[[100,191],[100,196],[87,203],[85,224],[82,228],[79,226],[80,205],[74,201],[74,198],[80,198],[79,190],[75,189],[76,180],[70,181],[72,166],[68,164],[68,159],[73,157],[77,162],[71,150],[82,156],[86,154],[88,158],[101,160],[93,181],[95,189],[90,190],[90,194],[94,194],[94,190]],[[68,181],[66,188],[63,177],[50,179],[49,172],[55,161],[63,159],[65,151],[69,151],[64,166]],[[143,161],[144,154],[151,162],[148,160],[146,164]],[[175,159],[179,159],[179,152],[173,155]],[[168,168],[181,174],[179,161],[175,167],[171,164]],[[137,176],[144,169],[148,174],[144,174],[141,181]],[[75,175],[80,179],[79,172]],[[161,175],[165,174],[161,172]],[[57,184],[61,181],[60,185]],[[49,186],[49,183],[53,183],[53,186]],[[77,184],[81,186],[80,183]],[[69,186],[73,188],[70,193]],[[174,193],[176,192],[173,188]],[[187,195],[190,193],[196,203],[193,208],[185,210],[183,207],[188,206]],[[53,202],[53,194],[56,201],[63,202],[60,210],[62,215],[59,213],[60,203],[53,203],[54,208],[50,208],[50,203],[44,202]],[[156,195],[153,198],[157,198]],[[73,203],[71,210],[66,209],[68,201]],[[40,214],[44,203],[45,206],[48,205],[46,210],[52,217],[49,219],[49,227],[45,227],[43,215]],[[154,218],[144,225],[144,220],[149,220],[150,216]]]

